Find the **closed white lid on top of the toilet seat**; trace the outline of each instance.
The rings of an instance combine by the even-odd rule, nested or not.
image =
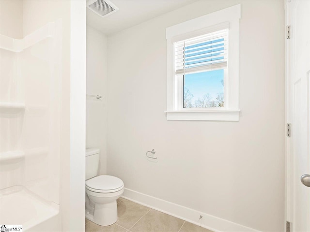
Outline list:
[[[97,190],[113,190],[124,186],[124,182],[115,176],[99,175],[86,181],[86,186]]]

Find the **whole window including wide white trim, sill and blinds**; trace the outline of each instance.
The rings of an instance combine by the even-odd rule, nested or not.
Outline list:
[[[240,5],[172,26],[167,119],[239,120]]]

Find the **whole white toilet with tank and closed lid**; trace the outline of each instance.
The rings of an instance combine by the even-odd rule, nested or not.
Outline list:
[[[100,226],[117,220],[116,200],[124,192],[124,183],[111,175],[97,175],[98,148],[86,149],[86,218]]]

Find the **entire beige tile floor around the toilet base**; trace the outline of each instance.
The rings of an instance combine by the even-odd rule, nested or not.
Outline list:
[[[117,200],[117,208],[115,224],[99,226],[86,219],[85,232],[211,232],[124,198]]]

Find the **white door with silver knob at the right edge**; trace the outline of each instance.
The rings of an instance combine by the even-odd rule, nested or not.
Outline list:
[[[310,232],[310,187],[301,176],[310,174],[310,0],[286,3],[290,39],[286,39],[287,207],[291,232]],[[310,180],[303,178],[303,182]]]

